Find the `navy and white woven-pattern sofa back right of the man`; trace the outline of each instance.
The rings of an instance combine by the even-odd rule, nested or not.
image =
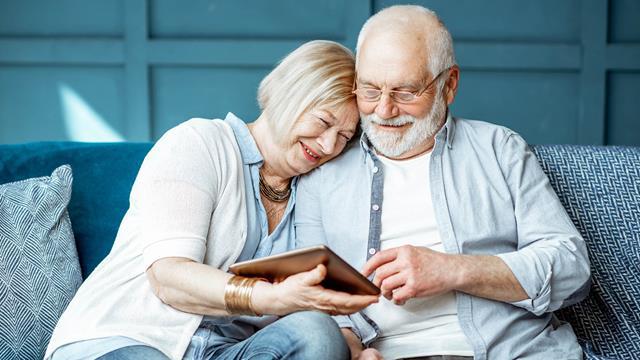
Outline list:
[[[551,185],[585,239],[591,293],[557,312],[587,359],[640,353],[640,148],[534,146]],[[632,355],[633,354],[633,355]]]

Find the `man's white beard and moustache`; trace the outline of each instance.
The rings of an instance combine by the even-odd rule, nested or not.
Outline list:
[[[438,94],[439,95],[439,94]],[[424,144],[433,137],[442,125],[442,119],[447,112],[445,100],[436,96],[431,111],[423,117],[400,115],[393,119],[384,120],[375,112],[365,115],[360,113],[360,126],[367,135],[371,145],[382,155],[397,158]],[[374,124],[400,126],[410,124],[404,132],[390,132],[378,129]]]

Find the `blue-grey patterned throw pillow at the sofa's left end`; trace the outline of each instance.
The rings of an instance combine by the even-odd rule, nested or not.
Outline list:
[[[67,204],[69,165],[0,185],[0,359],[42,359],[82,283]]]

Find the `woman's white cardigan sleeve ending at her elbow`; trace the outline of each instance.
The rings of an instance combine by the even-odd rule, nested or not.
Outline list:
[[[165,257],[204,260],[217,166],[190,124],[165,134],[145,158],[130,197],[144,268]]]

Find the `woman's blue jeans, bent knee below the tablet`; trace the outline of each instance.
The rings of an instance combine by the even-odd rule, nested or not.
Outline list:
[[[128,346],[112,351],[100,360],[167,359],[148,346]],[[211,347],[190,346],[185,359],[193,360],[272,360],[272,359],[349,359],[349,348],[335,321],[326,314],[297,312],[260,329],[249,338]]]

